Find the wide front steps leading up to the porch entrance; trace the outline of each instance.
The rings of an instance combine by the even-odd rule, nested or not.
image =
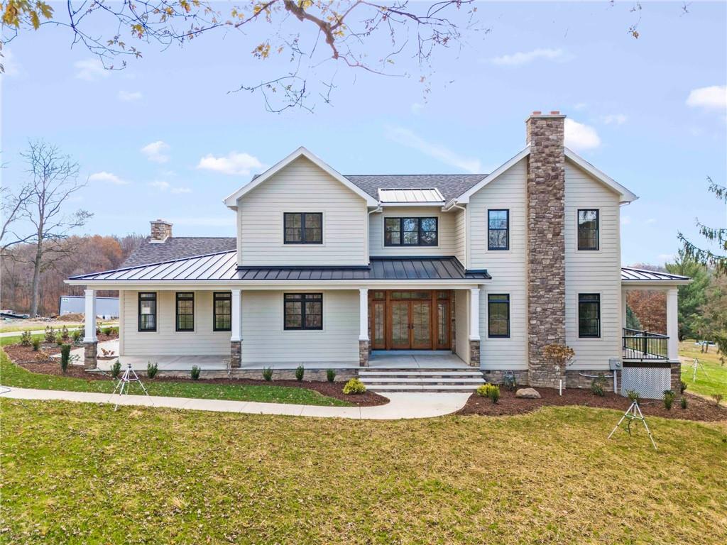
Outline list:
[[[479,369],[359,369],[358,378],[372,392],[474,392],[485,384]]]

